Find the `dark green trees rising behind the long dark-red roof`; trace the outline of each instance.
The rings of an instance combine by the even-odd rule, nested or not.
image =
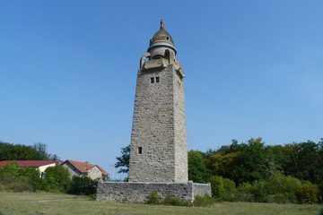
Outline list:
[[[37,142],[32,146],[0,142],[0,161],[2,160],[56,160],[56,154],[50,154],[45,143]]]

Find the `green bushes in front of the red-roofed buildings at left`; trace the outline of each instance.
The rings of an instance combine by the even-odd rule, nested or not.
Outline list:
[[[45,170],[46,176],[40,177],[37,168],[20,168],[16,162],[0,166],[0,191],[51,193],[73,193],[92,195],[96,193],[98,180],[88,176],[71,176],[62,166]]]

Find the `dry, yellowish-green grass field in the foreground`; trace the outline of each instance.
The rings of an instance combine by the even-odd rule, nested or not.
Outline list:
[[[222,202],[212,207],[175,207],[137,203],[89,201],[84,197],[53,193],[0,193],[0,215],[95,214],[95,215],[309,215],[319,214],[319,205]]]

